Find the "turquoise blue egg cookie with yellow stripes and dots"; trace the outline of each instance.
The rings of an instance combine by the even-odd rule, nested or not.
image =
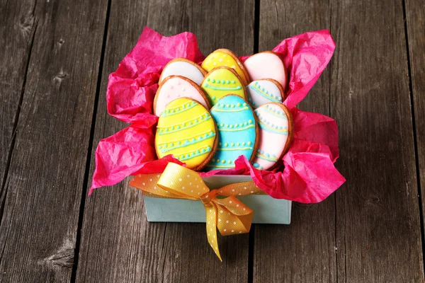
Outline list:
[[[229,95],[211,108],[218,129],[218,147],[207,165],[209,170],[234,168],[241,155],[254,157],[257,125],[254,112],[244,99]]]

